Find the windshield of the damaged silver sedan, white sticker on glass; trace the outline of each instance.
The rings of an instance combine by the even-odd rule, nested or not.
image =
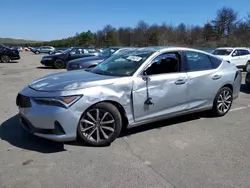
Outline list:
[[[90,72],[109,76],[131,76],[153,53],[139,50],[118,53],[97,65]]]

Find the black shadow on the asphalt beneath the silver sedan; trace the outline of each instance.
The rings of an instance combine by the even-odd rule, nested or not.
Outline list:
[[[147,132],[153,129],[162,129],[163,127],[172,126],[175,124],[184,123],[188,121],[193,121],[204,117],[214,118],[214,116],[210,115],[207,112],[184,115],[176,118],[170,118],[167,120],[138,126],[131,129],[124,128],[121,134],[119,135],[119,138],[129,137],[131,135],[140,132]],[[56,152],[66,151],[64,149],[65,144],[72,146],[81,146],[81,147],[94,147],[90,146],[89,144],[83,142],[80,139],[77,139],[76,141],[72,142],[61,143],[61,142],[46,140],[34,136],[32,134],[29,134],[25,130],[23,130],[23,128],[19,125],[18,114],[6,120],[0,125],[0,139],[7,141],[8,143],[10,143],[15,147],[31,151],[37,151],[40,153],[56,153]],[[109,145],[103,147],[108,147],[108,146]]]

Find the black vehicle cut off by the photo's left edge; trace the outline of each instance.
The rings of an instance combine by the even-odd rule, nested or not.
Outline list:
[[[5,45],[0,44],[0,62],[9,63],[12,60],[19,60],[20,55],[17,49],[11,49]]]

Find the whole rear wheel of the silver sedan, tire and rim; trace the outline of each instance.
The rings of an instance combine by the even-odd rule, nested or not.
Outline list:
[[[220,102],[221,101],[221,102]],[[221,117],[226,115],[231,109],[233,103],[233,92],[229,87],[221,88],[213,103],[212,113],[216,117]],[[226,107],[226,109],[225,109]],[[224,108],[224,110],[223,110]]]

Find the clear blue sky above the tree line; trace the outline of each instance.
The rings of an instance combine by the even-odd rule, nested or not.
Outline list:
[[[0,37],[53,40],[93,32],[111,24],[203,25],[223,6],[240,17],[250,12],[250,0],[2,0]]]

